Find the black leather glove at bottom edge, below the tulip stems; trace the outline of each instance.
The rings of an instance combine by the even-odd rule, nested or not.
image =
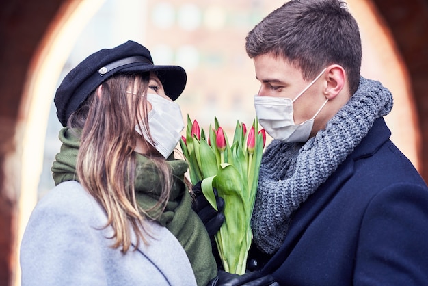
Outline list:
[[[263,276],[260,271],[247,272],[243,275],[219,271],[217,277],[207,286],[279,286],[271,275]]]

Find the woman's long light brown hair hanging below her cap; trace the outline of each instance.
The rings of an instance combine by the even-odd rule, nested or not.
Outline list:
[[[150,209],[141,209],[135,198],[133,153],[139,136],[136,122],[143,122],[142,128],[149,130],[146,96],[139,96],[146,94],[148,81],[148,73],[115,75],[102,83],[101,96],[95,91],[68,120],[69,127],[82,129],[76,166],[79,182],[105,209],[105,227],[113,228],[113,247],[122,246],[122,252],[131,246],[131,229],[144,243],[144,234],[150,235],[144,216]],[[149,142],[143,142],[148,150],[155,150]],[[152,208],[164,209],[172,185],[170,168],[164,159],[146,156],[155,163],[163,180],[161,196]]]

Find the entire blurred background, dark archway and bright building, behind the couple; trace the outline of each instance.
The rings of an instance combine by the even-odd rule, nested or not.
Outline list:
[[[187,70],[177,100],[205,129],[251,124],[258,92],[245,36],[278,0],[21,0],[0,12],[0,284],[19,285],[18,244],[29,213],[51,187],[61,125],[53,96],[90,53],[126,40],[155,64]],[[392,140],[428,179],[428,1],[347,0],[360,25],[362,75],[394,95]],[[368,170],[369,172],[369,170]]]

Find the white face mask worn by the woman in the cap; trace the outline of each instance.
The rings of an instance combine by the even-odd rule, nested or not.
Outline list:
[[[148,112],[147,117],[148,128],[154,141],[153,146],[166,159],[180,141],[180,132],[185,127],[180,105],[157,94],[147,94],[147,100],[152,105],[152,110]],[[140,122],[140,126],[143,128],[142,122]],[[145,130],[142,132],[138,125],[135,125],[135,131],[150,142]]]

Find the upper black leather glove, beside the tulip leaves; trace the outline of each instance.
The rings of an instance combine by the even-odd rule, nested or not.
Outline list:
[[[214,235],[219,231],[220,226],[224,222],[224,214],[222,213],[224,209],[224,199],[218,196],[217,190],[214,188],[215,202],[217,203],[216,211],[206,200],[204,194],[202,193],[202,187],[200,185],[201,181],[196,183],[193,186],[193,200],[191,207],[193,211],[198,213],[199,218],[205,225],[206,231],[208,231],[211,242],[214,240]]]

